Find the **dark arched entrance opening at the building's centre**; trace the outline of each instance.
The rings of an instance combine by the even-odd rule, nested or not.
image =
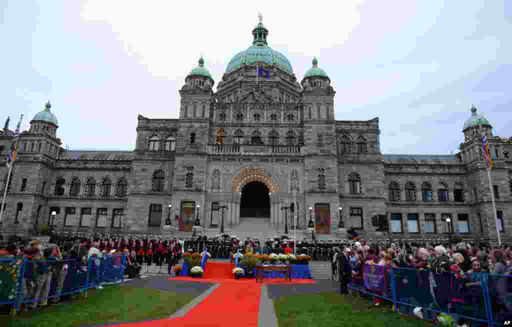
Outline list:
[[[241,217],[270,217],[270,195],[265,184],[252,181],[245,184],[241,191]]]

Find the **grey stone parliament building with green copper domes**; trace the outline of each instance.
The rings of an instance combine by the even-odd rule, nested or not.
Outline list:
[[[267,35],[260,20],[252,45],[229,61],[216,91],[200,58],[179,90],[179,118],[139,115],[133,151],[63,148],[58,108],[48,102],[19,134],[7,183],[15,134],[6,122],[2,232],[53,225],[62,232],[191,235],[199,222],[219,234],[222,221],[239,232],[244,221],[258,220],[282,234],[293,215],[298,231],[306,233],[312,221],[317,237],[345,238],[338,231],[354,227],[370,238],[496,240],[498,229],[502,241],[512,241],[512,138],[494,136],[477,108],[461,122],[455,155],[382,154],[378,118],[335,120],[335,91],[318,60],[297,79]],[[482,133],[493,157],[492,187]],[[389,231],[376,231],[376,214],[387,216]]]

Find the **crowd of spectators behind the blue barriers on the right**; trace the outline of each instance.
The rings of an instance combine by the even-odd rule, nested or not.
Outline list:
[[[477,306],[483,301],[482,274],[512,275],[512,246],[492,247],[473,242],[457,244],[432,243],[380,243],[370,244],[364,240],[352,245],[335,247],[332,257],[333,278],[339,281],[340,292],[348,293],[349,285],[364,289],[364,265],[381,265],[388,268],[408,268],[428,270],[436,275],[451,273],[457,281],[457,295],[463,296],[460,301]],[[390,269],[387,270],[388,272]],[[425,275],[428,280],[429,275]],[[508,296],[506,277],[496,276],[493,280],[494,309],[500,312],[512,312],[512,300]],[[430,284],[432,287],[432,284]],[[410,286],[415,287],[415,286]],[[452,287],[453,284],[452,284]],[[435,288],[435,286],[434,286]],[[453,290],[453,289],[452,289]],[[444,292],[449,301],[455,301],[454,294]],[[360,295],[357,291],[353,292]],[[383,294],[375,295],[382,296]],[[389,294],[388,294],[389,295]],[[379,297],[373,299],[375,306],[381,303]]]

